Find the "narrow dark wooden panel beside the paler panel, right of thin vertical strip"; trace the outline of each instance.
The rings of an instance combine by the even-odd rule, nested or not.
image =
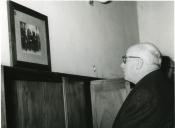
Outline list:
[[[66,80],[68,128],[92,128],[89,82]]]

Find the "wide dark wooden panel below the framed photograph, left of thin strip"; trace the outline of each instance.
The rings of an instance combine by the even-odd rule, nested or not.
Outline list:
[[[61,84],[21,80],[8,83],[8,128],[65,127]]]

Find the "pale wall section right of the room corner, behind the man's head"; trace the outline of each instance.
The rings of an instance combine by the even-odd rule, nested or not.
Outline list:
[[[140,41],[153,42],[160,51],[174,58],[173,1],[137,2]]]

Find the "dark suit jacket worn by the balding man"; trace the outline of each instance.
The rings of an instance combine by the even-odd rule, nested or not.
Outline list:
[[[126,98],[113,128],[172,128],[173,86],[161,70],[146,75]]]

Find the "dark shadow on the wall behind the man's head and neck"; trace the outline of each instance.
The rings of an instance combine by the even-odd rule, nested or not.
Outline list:
[[[172,84],[174,84],[174,61],[168,57],[162,57],[161,69]]]

